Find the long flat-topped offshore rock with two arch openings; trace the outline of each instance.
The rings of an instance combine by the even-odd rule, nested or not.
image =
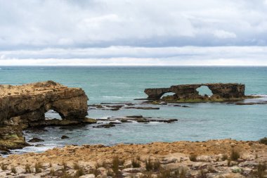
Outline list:
[[[203,98],[197,88],[207,86],[212,92],[213,98],[242,98],[245,96],[245,84],[181,84],[169,88],[145,89],[145,94],[150,100],[159,100],[163,94],[168,92],[175,93],[171,96],[173,100],[198,99]]]

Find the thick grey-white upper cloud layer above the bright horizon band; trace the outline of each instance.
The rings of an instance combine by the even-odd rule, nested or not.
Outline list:
[[[265,3],[0,0],[0,49],[258,45],[267,38]]]

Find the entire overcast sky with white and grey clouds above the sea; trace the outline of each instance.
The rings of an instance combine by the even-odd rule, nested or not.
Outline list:
[[[267,0],[0,0],[0,65],[267,65]]]

